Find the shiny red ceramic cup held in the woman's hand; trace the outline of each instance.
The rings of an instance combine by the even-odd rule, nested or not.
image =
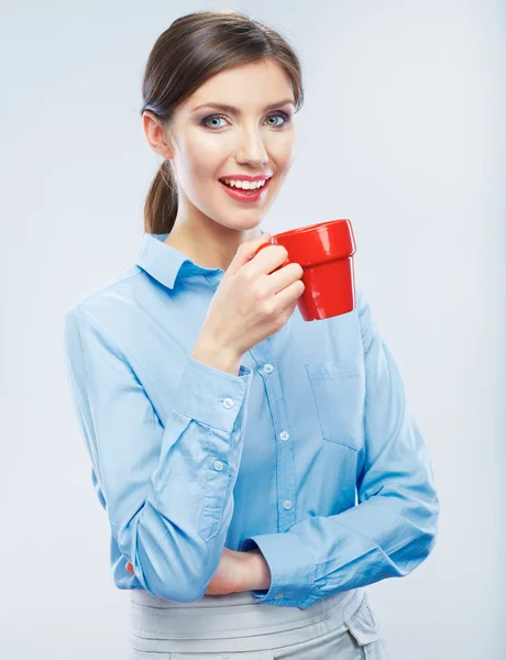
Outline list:
[[[304,268],[301,279],[306,288],[297,307],[305,321],[328,319],[355,309],[355,240],[350,220],[329,220],[284,231],[271,237],[271,243],[260,250],[270,244],[283,245],[288,251],[287,260],[278,268],[290,262]]]

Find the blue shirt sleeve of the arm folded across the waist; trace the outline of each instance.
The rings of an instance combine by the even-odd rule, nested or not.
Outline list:
[[[362,292],[359,321],[366,378],[359,504],[246,538],[241,549],[257,546],[271,570],[270,588],[251,592],[257,602],[306,609],[330,594],[407,575],[435,546],[439,498],[428,450]]]

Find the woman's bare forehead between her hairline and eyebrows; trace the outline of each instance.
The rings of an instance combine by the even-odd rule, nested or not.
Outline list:
[[[268,102],[293,99],[290,79],[285,69],[271,59],[227,68],[204,82],[180,109],[191,111],[206,102],[261,110]]]

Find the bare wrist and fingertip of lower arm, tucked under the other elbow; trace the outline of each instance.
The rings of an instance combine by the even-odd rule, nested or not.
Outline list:
[[[127,570],[133,566],[127,562]],[[271,571],[258,548],[249,552],[237,552],[223,548],[218,569],[209,582],[206,595],[224,595],[252,588],[268,588]]]

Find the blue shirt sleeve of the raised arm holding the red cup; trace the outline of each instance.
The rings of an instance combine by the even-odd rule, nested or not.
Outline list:
[[[235,376],[188,354],[161,420],[122,348],[85,309],[65,315],[64,358],[125,564],[152,595],[201,598],[233,513],[252,371],[241,365]]]

